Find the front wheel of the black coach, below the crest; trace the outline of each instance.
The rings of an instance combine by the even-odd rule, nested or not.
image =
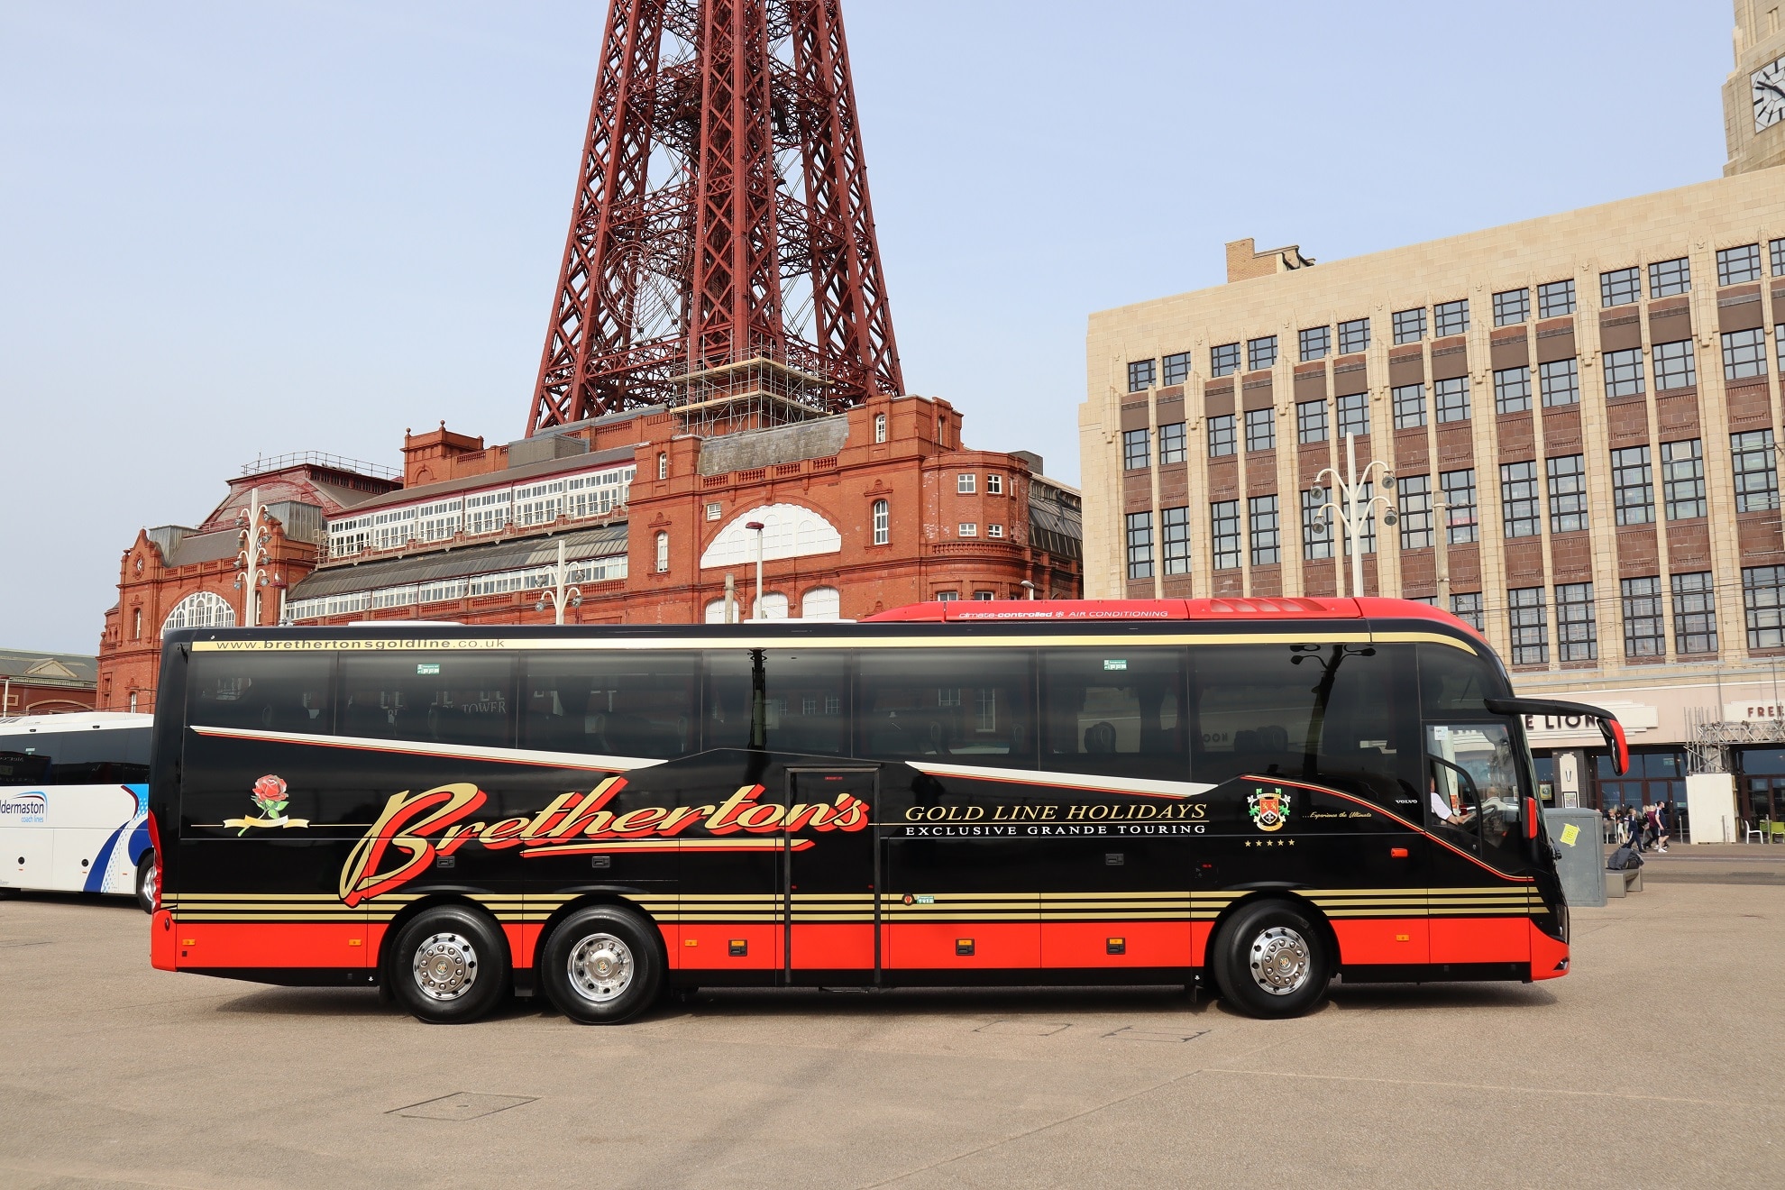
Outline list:
[[[1253,901],[1221,928],[1214,946],[1221,997],[1248,1017],[1299,1017],[1333,976],[1326,935],[1289,901]]]

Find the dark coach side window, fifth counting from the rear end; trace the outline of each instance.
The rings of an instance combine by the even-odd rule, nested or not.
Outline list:
[[[1028,649],[862,649],[857,756],[1034,769]]]

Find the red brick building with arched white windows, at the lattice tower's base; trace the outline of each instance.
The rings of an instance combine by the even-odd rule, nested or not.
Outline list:
[[[309,457],[248,471],[198,530],[148,530],[125,553],[102,708],[152,707],[170,617],[227,605],[241,623],[253,489],[270,503],[262,592],[282,596],[253,623],[552,623],[559,583],[580,594],[566,623],[698,623],[725,616],[726,576],[748,617],[759,533],[768,617],[1080,594],[1078,494],[1035,455],[964,446],[960,414],[932,398],[723,434],[653,407],[507,446],[443,425],[405,435],[402,485]]]

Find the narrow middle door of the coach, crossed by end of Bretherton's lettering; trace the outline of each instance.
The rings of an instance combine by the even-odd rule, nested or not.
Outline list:
[[[878,978],[878,769],[787,769],[787,981]]]

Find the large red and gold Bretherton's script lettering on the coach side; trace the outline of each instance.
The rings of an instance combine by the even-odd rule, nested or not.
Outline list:
[[[469,781],[436,785],[419,794],[391,794],[384,812],[341,867],[341,899],[359,905],[400,888],[432,867],[434,858],[452,855],[466,844],[493,851],[519,847],[521,858],[541,855],[585,855],[591,851],[671,851],[677,835],[694,826],[719,837],[707,851],[759,851],[778,840],[737,839],[739,835],[778,835],[782,831],[859,831],[868,826],[868,803],[851,794],[837,794],[835,803],[793,805],[757,801],[760,785],[741,785],[737,792],[709,806],[639,806],[614,814],[607,803],[627,787],[627,778],[610,776],[587,792],[573,790],[552,799],[532,817],[468,822],[487,801]],[[726,846],[723,840],[732,837]],[[810,839],[787,844],[794,851],[812,846]]]

